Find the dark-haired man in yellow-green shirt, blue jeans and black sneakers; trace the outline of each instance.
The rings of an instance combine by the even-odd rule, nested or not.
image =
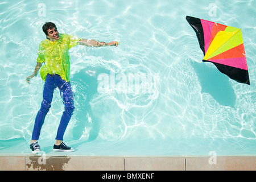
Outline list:
[[[47,39],[43,40],[39,45],[38,58],[36,59],[37,65],[34,73],[31,76],[26,77],[26,81],[29,84],[30,79],[38,74],[39,69],[42,67],[42,63],[44,63],[43,67],[40,69],[40,76],[45,81],[43,101],[40,110],[36,115],[30,148],[32,153],[40,152],[40,146],[38,144],[40,131],[46,114],[51,107],[53,91],[55,88],[59,88],[65,109],[60,119],[53,151],[71,152],[75,151],[74,148],[68,147],[67,144],[63,142],[63,135],[75,109],[73,105],[73,92],[69,81],[70,64],[68,50],[77,45],[89,47],[117,47],[118,43],[115,41],[110,43],[97,42],[92,39],[81,39],[73,35],[59,34],[55,24],[52,22],[45,23],[43,25],[43,31],[46,34]]]

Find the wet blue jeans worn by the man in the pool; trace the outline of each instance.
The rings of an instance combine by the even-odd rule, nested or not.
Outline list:
[[[73,111],[75,107],[73,105],[73,92],[71,90],[70,82],[66,82],[65,80],[61,79],[59,75],[47,75],[46,82],[44,84],[44,91],[43,91],[43,101],[41,104],[41,108],[38,111],[35,119],[34,130],[32,133],[32,140],[38,140],[41,128],[44,123],[44,119],[46,118],[46,114],[49,111],[52,103],[52,96],[53,91],[59,88],[60,95],[62,94],[63,103],[65,105],[65,110],[63,115],[60,119],[59,128],[57,130],[56,140],[63,140],[63,135],[65,130],[67,129],[68,122],[71,119]]]

